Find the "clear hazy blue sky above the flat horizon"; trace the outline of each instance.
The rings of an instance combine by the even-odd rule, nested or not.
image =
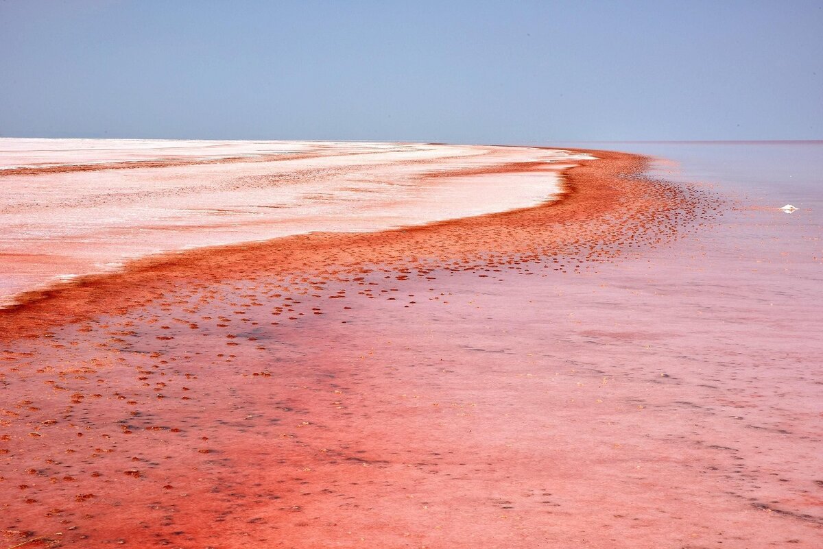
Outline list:
[[[823,0],[0,0],[0,136],[823,139]]]

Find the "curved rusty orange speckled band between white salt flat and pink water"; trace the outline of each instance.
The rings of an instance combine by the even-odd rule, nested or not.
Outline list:
[[[597,159],[578,160],[562,172],[564,192],[556,201],[376,233],[309,233],[151,256],[116,273],[23,293],[19,303],[0,310],[2,338],[128,311],[146,295],[162,295],[190,281],[215,283],[262,271],[283,279],[295,274],[333,279],[365,265],[402,265],[421,273],[444,262],[477,270],[541,258],[551,258],[556,270],[588,269],[587,263],[611,261],[627,248],[667,242],[709,210],[706,201],[682,187],[644,178],[647,157],[572,151]]]

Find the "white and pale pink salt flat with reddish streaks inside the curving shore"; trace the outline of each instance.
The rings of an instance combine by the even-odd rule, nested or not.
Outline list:
[[[140,257],[551,200],[583,153],[335,141],[0,140],[0,306]]]

